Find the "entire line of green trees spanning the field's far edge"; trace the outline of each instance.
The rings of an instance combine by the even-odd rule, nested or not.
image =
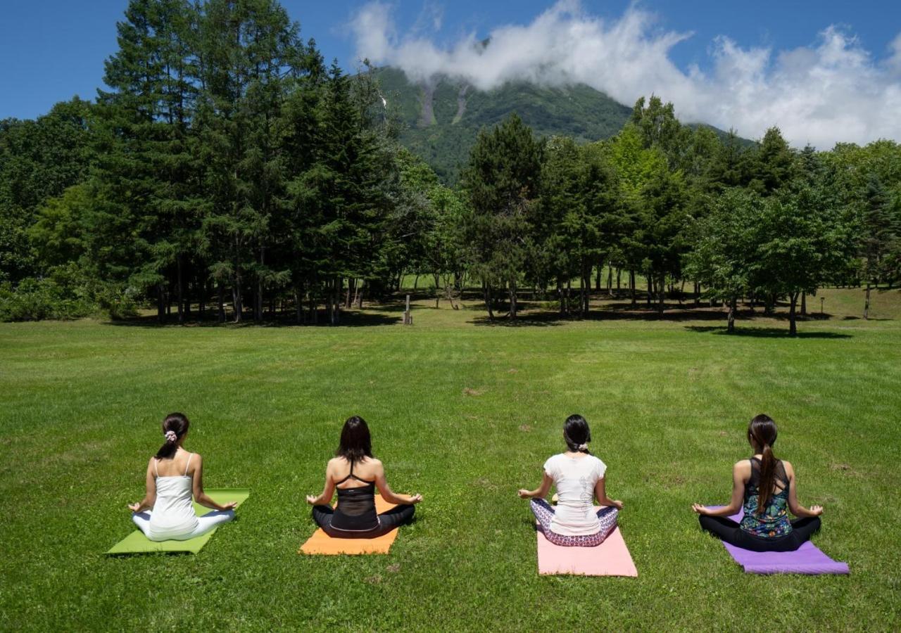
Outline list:
[[[652,96],[585,145],[513,114],[447,186],[398,144],[373,73],[326,66],[274,0],[132,0],[117,29],[95,102],[0,122],[0,319],[337,323],[405,273],[477,287],[491,318],[524,289],[584,315],[605,275],[660,311],[689,283],[730,330],[742,298],[785,300],[794,333],[823,285],[866,285],[866,314],[901,278],[890,140],[748,145]]]

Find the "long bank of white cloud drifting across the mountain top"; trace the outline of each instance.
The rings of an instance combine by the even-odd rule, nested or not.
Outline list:
[[[350,27],[360,58],[403,68],[413,80],[448,75],[483,90],[521,79],[585,83],[629,105],[653,93],[673,102],[685,122],[733,127],[750,138],[778,125],[799,147],[901,140],[901,34],[881,62],[836,27],[820,32],[815,45],[776,52],[742,49],[722,36],[704,72],[683,71],[669,57],[690,33],[660,31],[655,16],[635,6],[605,21],[578,0],[560,0],[532,23],[496,27],[487,47],[474,33],[446,47],[423,29],[398,35],[382,2],[365,5]]]

